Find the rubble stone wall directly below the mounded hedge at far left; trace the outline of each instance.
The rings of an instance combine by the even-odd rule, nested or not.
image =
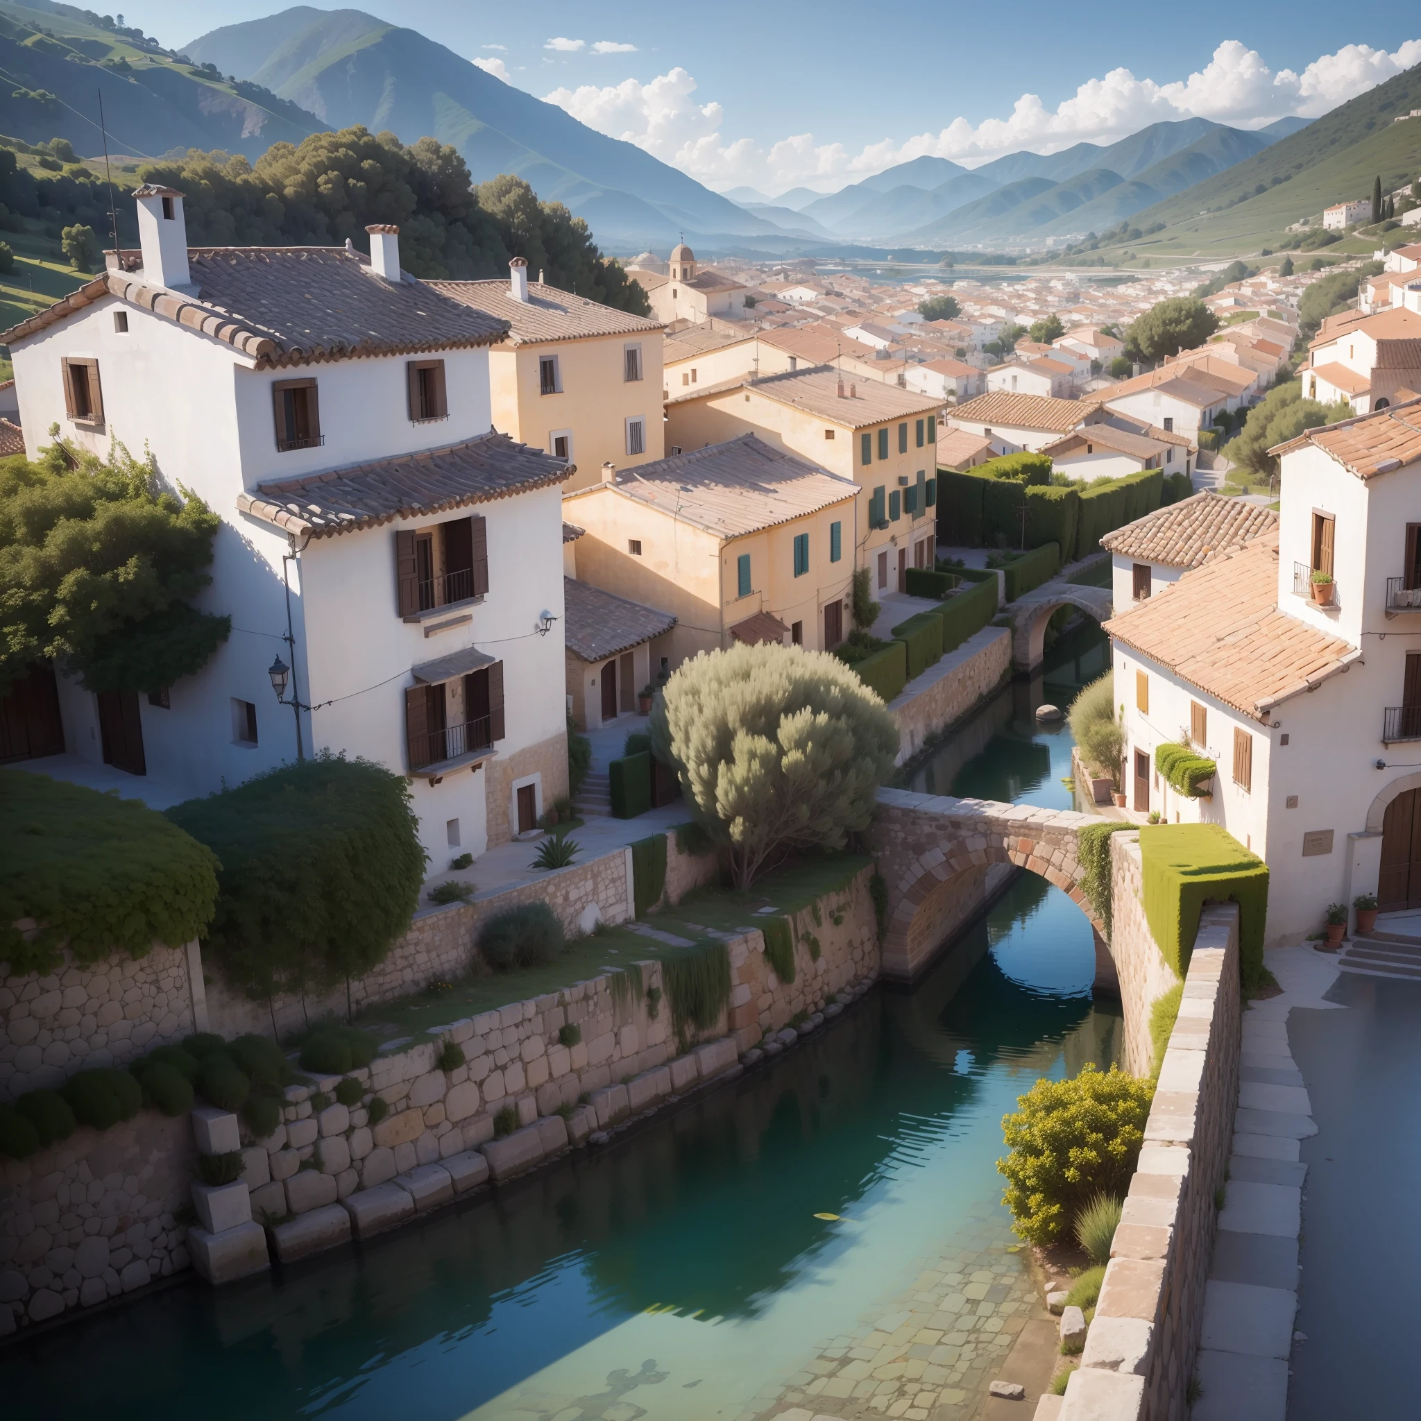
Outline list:
[[[10,973],[0,962],[0,1101],[63,1086],[77,1070],[124,1066],[203,1029],[198,945],[155,944],[144,958],[114,952],[80,963],[67,948],[53,972]]]

